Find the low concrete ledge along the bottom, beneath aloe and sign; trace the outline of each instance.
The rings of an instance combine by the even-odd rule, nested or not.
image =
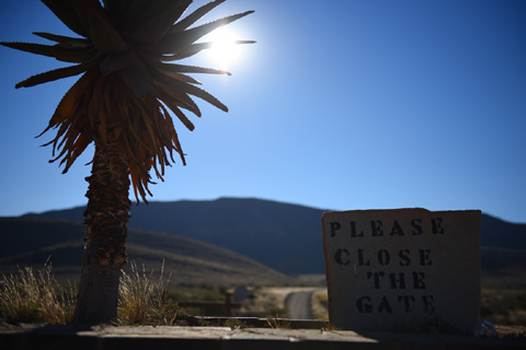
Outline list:
[[[357,334],[343,330],[230,327],[27,326],[0,330],[0,349],[503,349],[526,338]]]

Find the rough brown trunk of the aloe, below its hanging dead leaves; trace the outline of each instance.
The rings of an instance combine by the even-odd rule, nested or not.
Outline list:
[[[87,177],[85,245],[73,323],[110,323],[117,316],[121,267],[126,264],[129,171],[116,142],[95,148]]]

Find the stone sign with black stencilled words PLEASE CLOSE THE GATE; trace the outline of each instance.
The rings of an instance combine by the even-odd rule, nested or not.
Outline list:
[[[479,210],[353,210],[322,217],[329,316],[340,329],[472,332]]]

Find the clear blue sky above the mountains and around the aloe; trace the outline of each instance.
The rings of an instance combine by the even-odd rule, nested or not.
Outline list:
[[[203,4],[206,1],[196,1]],[[232,77],[196,77],[225,102],[176,125],[187,166],[151,200],[259,197],[323,209],[481,209],[526,222],[526,1],[227,0],[207,19],[244,46]],[[0,40],[69,34],[37,0],[9,1]],[[0,48],[0,215],[85,203],[91,160],[48,164],[34,139],[75,80],[15,90],[61,67]],[[214,66],[204,55],[193,61]],[[232,213],[236,214],[236,213]]]

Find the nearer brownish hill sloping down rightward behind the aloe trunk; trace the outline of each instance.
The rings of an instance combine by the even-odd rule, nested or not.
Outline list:
[[[42,268],[50,257],[60,279],[78,280],[83,255],[84,228],[78,221],[49,218],[0,219],[0,272],[18,266]],[[130,260],[147,272],[161,271],[171,282],[190,284],[287,284],[290,278],[245,256],[208,243],[130,229],[127,240]],[[127,265],[129,269],[129,264]]]

